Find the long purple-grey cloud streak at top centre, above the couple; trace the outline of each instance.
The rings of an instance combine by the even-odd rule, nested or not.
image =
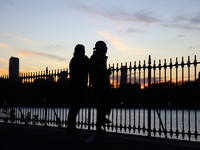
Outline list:
[[[153,16],[150,11],[132,12],[125,6],[105,7],[99,5],[83,4],[77,1],[67,3],[67,7],[73,10],[82,11],[89,15],[102,16],[110,20],[118,21],[136,21],[142,23],[159,22],[159,19]]]

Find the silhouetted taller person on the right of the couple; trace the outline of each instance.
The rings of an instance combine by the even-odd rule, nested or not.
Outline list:
[[[110,113],[108,100],[111,93],[109,75],[111,71],[107,69],[107,46],[104,41],[95,44],[93,55],[90,57],[90,80],[93,91],[98,97],[99,109],[97,112],[97,132],[102,131],[101,127],[109,120],[105,118]]]

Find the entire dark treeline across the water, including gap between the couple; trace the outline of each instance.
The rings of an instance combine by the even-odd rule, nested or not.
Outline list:
[[[16,80],[0,80],[2,107],[69,107],[71,92],[69,81],[53,82],[38,80],[19,83]],[[200,109],[200,83],[172,82],[152,84],[141,89],[138,84],[125,84],[112,88],[110,105],[113,108],[190,108]],[[83,107],[97,107],[92,88],[85,93]]]

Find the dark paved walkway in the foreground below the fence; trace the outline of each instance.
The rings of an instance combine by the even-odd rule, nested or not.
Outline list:
[[[200,150],[200,142],[0,123],[1,150]]]

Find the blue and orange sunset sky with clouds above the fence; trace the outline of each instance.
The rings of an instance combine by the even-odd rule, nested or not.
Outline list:
[[[20,72],[68,68],[76,44],[90,57],[98,40],[109,64],[200,61],[200,0],[0,0],[0,75],[11,56]]]

